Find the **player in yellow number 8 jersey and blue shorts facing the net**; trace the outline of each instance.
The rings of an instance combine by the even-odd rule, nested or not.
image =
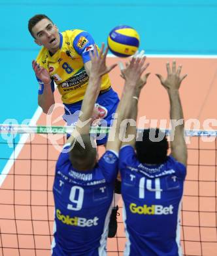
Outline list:
[[[39,81],[38,102],[44,113],[55,103],[54,81],[65,107],[63,119],[67,125],[76,122],[84,93],[88,85],[91,62],[89,52],[95,44],[92,36],[83,30],[67,30],[59,33],[56,25],[44,14],[29,20],[28,29],[37,45],[42,45],[32,66]],[[118,95],[112,90],[108,74],[101,79],[97,98],[97,117],[102,126],[110,126],[112,114],[118,105]],[[97,140],[105,144],[107,137]]]

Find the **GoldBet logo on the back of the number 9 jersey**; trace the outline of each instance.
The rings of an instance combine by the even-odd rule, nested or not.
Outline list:
[[[80,217],[71,217],[69,215],[61,214],[59,209],[56,210],[56,217],[59,221],[63,224],[70,225],[70,226],[81,226],[81,227],[89,227],[89,226],[97,226],[97,221],[99,220],[98,217],[94,217],[93,219],[86,219]]]

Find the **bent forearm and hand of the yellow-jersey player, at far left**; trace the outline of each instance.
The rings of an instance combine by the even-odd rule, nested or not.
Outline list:
[[[49,108],[55,103],[54,93],[51,89],[52,80],[48,71],[45,68],[39,66],[35,60],[32,62],[32,67],[37,78],[40,79],[43,83],[42,94],[38,95],[38,104],[41,106],[43,112],[47,114]]]

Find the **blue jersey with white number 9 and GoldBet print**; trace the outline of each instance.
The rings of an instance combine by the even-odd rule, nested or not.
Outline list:
[[[63,150],[69,150],[68,144]],[[53,256],[106,255],[118,157],[107,151],[90,171],[76,171],[61,152],[54,179]]]

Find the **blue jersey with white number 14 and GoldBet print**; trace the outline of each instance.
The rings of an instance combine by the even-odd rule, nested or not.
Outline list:
[[[179,214],[186,167],[172,156],[161,165],[137,160],[132,146],[120,150],[127,243],[124,255],[178,256]]]

